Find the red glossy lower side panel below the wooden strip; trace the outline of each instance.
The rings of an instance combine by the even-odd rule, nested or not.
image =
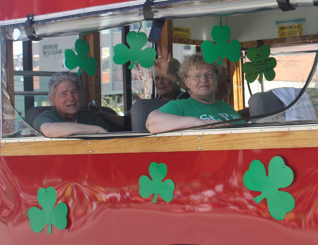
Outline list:
[[[293,169],[295,208],[281,220],[245,188],[252,160],[281,156]],[[1,157],[1,244],[318,244],[317,148]],[[139,177],[164,162],[174,198],[141,198]],[[69,225],[30,229],[28,209],[53,186]]]

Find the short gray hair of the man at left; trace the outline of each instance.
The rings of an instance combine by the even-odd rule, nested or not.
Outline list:
[[[75,83],[78,91],[81,90],[81,78],[76,73],[71,73],[68,71],[61,71],[54,74],[51,79],[49,79],[49,95],[54,97],[55,92],[57,92],[57,85],[61,82],[69,80]]]

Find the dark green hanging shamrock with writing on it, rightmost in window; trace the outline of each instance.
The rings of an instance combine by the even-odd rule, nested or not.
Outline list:
[[[263,73],[266,80],[273,80],[275,78],[276,59],[269,58],[271,49],[267,45],[263,45],[257,50],[256,47],[251,47],[247,52],[247,58],[252,62],[243,64],[243,72],[247,83],[253,83],[259,76],[259,83],[263,82]]]

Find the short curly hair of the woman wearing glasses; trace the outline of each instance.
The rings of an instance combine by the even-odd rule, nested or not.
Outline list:
[[[180,78],[185,78],[188,75],[188,72],[192,66],[196,66],[196,68],[202,67],[202,66],[211,66],[211,70],[216,73],[217,77],[220,75],[220,71],[222,70],[222,66],[218,66],[216,62],[213,62],[212,64],[208,64],[204,60],[202,53],[192,54],[192,55],[184,57],[184,61],[179,71]]]

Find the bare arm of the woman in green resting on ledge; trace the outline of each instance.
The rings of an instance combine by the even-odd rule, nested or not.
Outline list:
[[[203,120],[194,116],[177,116],[155,110],[149,114],[146,121],[146,128],[151,133],[162,133],[178,129],[187,129],[193,126],[213,124],[213,122],[219,121]],[[224,124],[219,126],[223,125]]]

